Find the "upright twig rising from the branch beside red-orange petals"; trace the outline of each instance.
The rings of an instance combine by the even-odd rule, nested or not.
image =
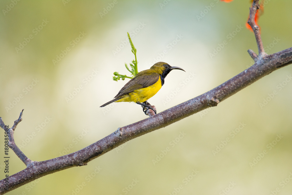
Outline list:
[[[264,46],[263,46],[263,42],[262,42],[262,38],[260,37],[260,27],[258,25],[256,25],[255,22],[255,16],[256,16],[256,11],[259,9],[260,5],[258,4],[259,0],[253,0],[253,4],[252,6],[249,8],[249,18],[247,23],[251,26],[253,33],[255,34],[256,37],[256,43],[258,45],[258,55],[259,56],[265,56],[267,55],[265,53],[264,50]],[[249,55],[251,55],[250,52],[248,52]],[[256,58],[254,58],[254,54],[251,56],[254,60],[256,60]]]

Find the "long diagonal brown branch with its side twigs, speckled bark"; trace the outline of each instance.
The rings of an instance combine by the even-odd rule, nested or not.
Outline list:
[[[169,108],[156,115],[149,114],[151,117],[135,122],[131,125],[127,125],[118,128],[115,132],[107,137],[81,149],[74,153],[53,158],[47,161],[31,161],[25,156],[23,157],[17,149],[13,149],[20,159],[27,165],[24,170],[15,173],[8,177],[9,190],[5,190],[5,180],[0,181],[0,193],[5,194],[15,188],[18,188],[28,182],[36,180],[44,175],[51,174],[67,168],[86,165],[89,161],[105,154],[106,152],[118,147],[119,145],[139,137],[143,134],[152,132],[166,127],[178,120],[181,120],[194,113],[202,111],[208,107],[217,106],[218,103],[232,96],[236,92],[244,89],[248,85],[256,82],[260,78],[272,73],[273,71],[282,68],[292,63],[292,47],[285,49],[275,54],[267,55],[263,49],[263,43],[260,39],[259,29],[254,25],[254,14],[258,9],[258,0],[254,0],[252,8],[250,9],[250,20],[253,31],[255,33],[256,42],[258,45],[259,55],[256,55],[252,50],[248,50],[248,53],[255,60],[255,64],[250,68],[244,70],[238,75],[234,76],[230,80],[227,80],[223,84],[215,87],[214,89],[197,96],[193,99],[185,101],[177,106]],[[254,23],[254,24],[253,24]],[[150,110],[151,112],[151,110]],[[154,112],[153,112],[154,113]],[[11,132],[14,132],[16,125],[22,120],[22,112],[18,118],[18,122],[15,121]],[[5,128],[4,122],[0,117],[0,124],[2,128]],[[9,141],[13,140],[13,133],[10,135]],[[11,147],[14,147],[11,145]]]

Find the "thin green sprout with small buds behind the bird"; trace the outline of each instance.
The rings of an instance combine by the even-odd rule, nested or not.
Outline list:
[[[132,53],[135,55],[135,60],[133,60],[132,63],[130,63],[131,70],[126,63],[125,63],[125,66],[126,66],[127,70],[131,73],[132,76],[128,77],[127,75],[121,75],[118,72],[114,72],[114,77],[113,77],[114,81],[118,81],[120,79],[125,80],[125,78],[132,79],[135,77],[136,74],[138,74],[138,66],[137,66],[138,62],[137,62],[137,55],[136,55],[137,49],[135,48],[129,33],[128,33],[128,38],[129,38],[129,42],[131,44]]]

